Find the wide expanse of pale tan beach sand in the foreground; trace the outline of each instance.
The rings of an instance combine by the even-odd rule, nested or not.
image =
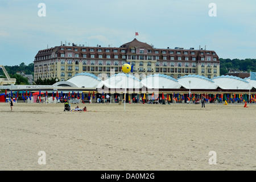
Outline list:
[[[72,109],[75,104],[71,105]],[[0,104],[1,170],[255,170],[256,105]],[[39,151],[46,164],[39,164]],[[209,164],[210,151],[216,163]]]

